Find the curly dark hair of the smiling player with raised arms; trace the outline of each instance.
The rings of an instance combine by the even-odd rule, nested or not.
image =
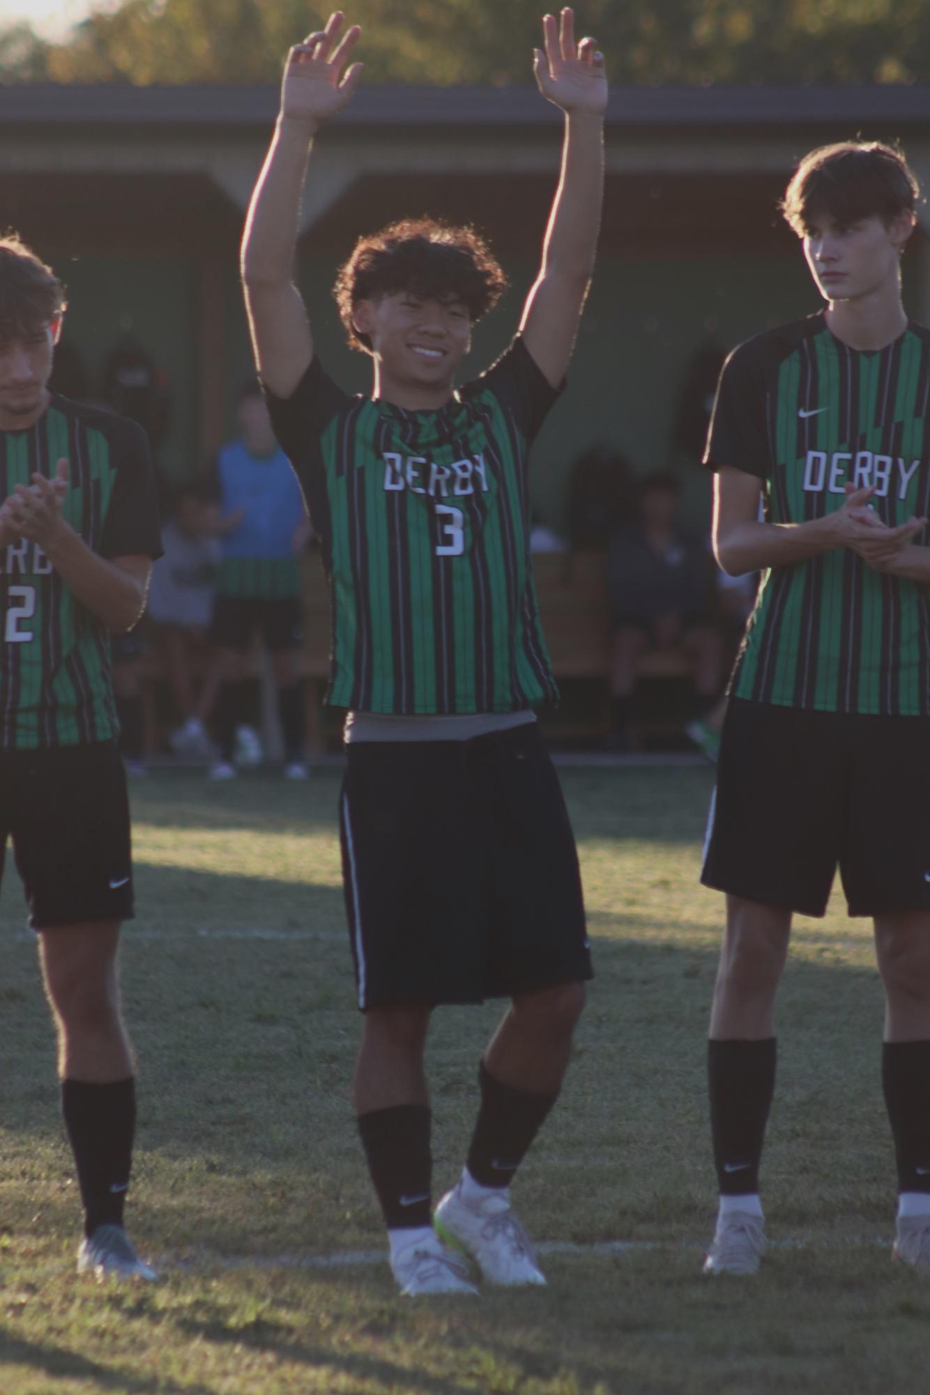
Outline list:
[[[403,218],[379,233],[360,237],[339,269],[333,296],[351,349],[371,353],[371,339],[358,333],[353,310],[402,290],[424,300],[460,300],[471,324],[492,308],[508,279],[474,227],[453,227],[434,218]]]

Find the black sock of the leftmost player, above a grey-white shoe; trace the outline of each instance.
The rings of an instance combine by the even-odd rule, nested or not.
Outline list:
[[[135,1080],[61,1081],[61,1113],[78,1169],[84,1230],[123,1225],[135,1133]]]

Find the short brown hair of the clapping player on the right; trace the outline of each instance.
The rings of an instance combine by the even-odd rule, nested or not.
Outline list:
[[[821,145],[795,170],[781,201],[785,219],[803,237],[824,212],[838,223],[878,216],[890,223],[913,212],[920,186],[902,152],[881,141]]]

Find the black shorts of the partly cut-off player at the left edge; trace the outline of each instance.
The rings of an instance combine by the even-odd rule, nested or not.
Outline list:
[[[114,741],[0,751],[0,876],[7,838],[33,930],[132,917],[130,808]]]

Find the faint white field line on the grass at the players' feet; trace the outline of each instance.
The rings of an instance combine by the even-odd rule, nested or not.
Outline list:
[[[770,1250],[848,1250],[853,1246],[891,1249],[891,1242],[878,1236],[844,1237],[842,1240],[805,1239],[770,1240]],[[699,1240],[594,1240],[590,1244],[576,1244],[572,1240],[544,1240],[537,1244],[538,1254],[567,1254],[570,1258],[612,1258],[622,1254],[644,1254],[657,1250],[679,1250],[703,1254],[706,1244]],[[152,1261],[158,1264],[159,1261]],[[202,1254],[197,1258],[171,1261],[163,1257],[165,1269],[360,1269],[388,1262],[386,1250],[342,1250],[333,1254],[250,1254],[223,1256]]]

